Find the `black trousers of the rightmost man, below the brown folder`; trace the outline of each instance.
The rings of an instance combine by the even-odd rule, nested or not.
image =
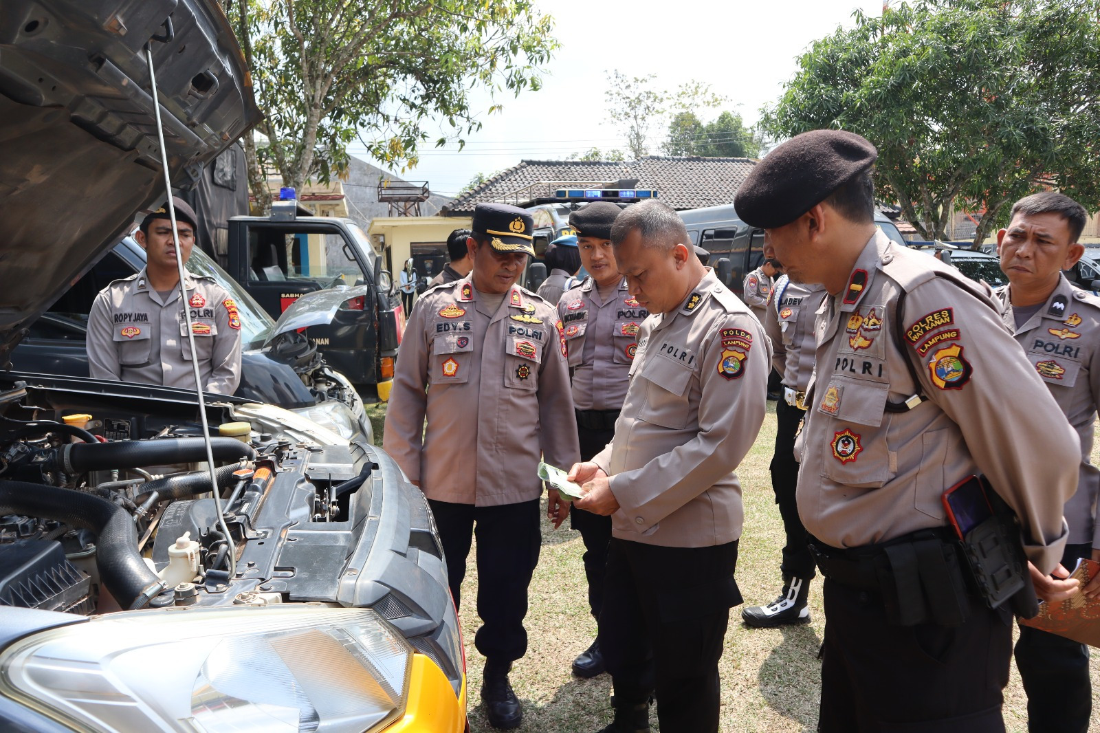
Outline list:
[[[1072,570],[1077,559],[1091,557],[1092,546],[1066,545],[1062,565]],[[1027,693],[1031,733],[1088,733],[1092,716],[1089,647],[1049,632],[1020,627],[1016,668]]]

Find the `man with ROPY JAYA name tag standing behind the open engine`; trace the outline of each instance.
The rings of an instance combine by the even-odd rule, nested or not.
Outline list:
[[[195,211],[173,199],[184,264],[195,247]],[[195,389],[187,320],[167,207],[150,214],[134,234],[146,265],[105,287],[88,314],[88,368],[100,380]],[[233,394],[241,382],[241,317],[212,278],[185,271],[187,307],[202,390]]]

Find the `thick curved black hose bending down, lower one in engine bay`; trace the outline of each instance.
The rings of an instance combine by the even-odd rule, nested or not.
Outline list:
[[[0,481],[0,516],[23,514],[64,522],[96,534],[96,565],[123,609],[143,609],[164,590],[138,551],[138,530],[124,508],[72,489]]]

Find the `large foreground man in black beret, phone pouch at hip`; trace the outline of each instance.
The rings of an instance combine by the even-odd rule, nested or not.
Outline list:
[[[1000,732],[1011,613],[968,590],[942,494],[983,473],[1042,578],[1066,543],[1079,446],[992,298],[876,228],[876,157],[850,132],[803,133],[735,199],[792,281],[828,292],[798,441],[799,514],[825,576],[818,731]]]

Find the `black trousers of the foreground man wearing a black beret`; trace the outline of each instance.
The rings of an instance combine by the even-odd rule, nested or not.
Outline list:
[[[820,733],[1003,733],[1012,616],[970,597],[961,626],[891,626],[882,599],[825,579]]]

